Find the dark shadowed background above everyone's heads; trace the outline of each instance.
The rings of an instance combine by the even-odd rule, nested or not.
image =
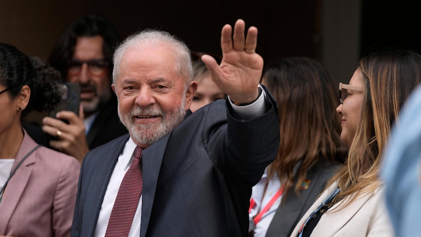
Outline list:
[[[407,2],[406,2],[407,1]],[[421,30],[409,0],[0,0],[0,42],[47,58],[75,18],[100,14],[122,39],[146,28],[166,30],[193,51],[221,54],[224,24],[243,19],[259,30],[256,52],[265,62],[308,56],[348,83],[358,59],[383,46],[419,50]]]

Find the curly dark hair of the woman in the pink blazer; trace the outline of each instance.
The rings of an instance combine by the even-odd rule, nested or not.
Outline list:
[[[60,72],[38,57],[29,58],[15,46],[0,43],[0,84],[9,88],[10,98],[18,96],[22,86],[31,89],[31,96],[22,111],[21,120],[31,111],[51,111],[60,101],[56,81]]]

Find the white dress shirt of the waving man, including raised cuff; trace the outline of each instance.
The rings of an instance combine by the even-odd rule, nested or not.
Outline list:
[[[265,98],[266,92],[262,89],[262,94],[260,97],[253,103],[247,106],[236,106],[230,103],[232,108],[237,116],[242,119],[251,119],[253,117],[262,115],[265,112]],[[133,140],[128,139],[126,145],[123,149],[123,152],[118,157],[117,164],[114,167],[114,171],[111,174],[110,181],[108,182],[107,189],[105,191],[103,204],[101,205],[101,211],[98,216],[98,221],[95,229],[95,237],[104,237],[106,228],[108,225],[109,217],[111,215],[112,208],[114,206],[115,199],[117,197],[120,184],[123,181],[123,177],[126,174],[126,171],[131,165],[131,162],[134,158],[134,150],[137,145]],[[142,195],[140,196],[139,203],[137,205],[136,213],[134,214],[133,222],[128,233],[128,237],[138,237],[140,236],[140,224],[142,215]]]

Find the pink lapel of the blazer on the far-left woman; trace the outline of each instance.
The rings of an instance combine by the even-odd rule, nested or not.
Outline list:
[[[37,144],[25,133],[21,147],[16,154],[12,171],[22,158],[36,146]],[[31,176],[33,164],[36,161],[36,152],[37,151],[33,151],[32,154],[23,161],[4,190],[4,194],[0,202],[0,230],[6,230],[10,217],[21,199],[22,193],[25,190],[29,177]]]

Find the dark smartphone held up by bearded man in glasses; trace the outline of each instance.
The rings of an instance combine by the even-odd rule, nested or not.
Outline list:
[[[76,115],[79,115],[81,85],[70,82],[59,82],[58,89],[62,98],[54,110],[49,113],[49,116],[55,118],[56,113],[63,110],[73,111]],[[68,123],[67,121],[64,122]]]

